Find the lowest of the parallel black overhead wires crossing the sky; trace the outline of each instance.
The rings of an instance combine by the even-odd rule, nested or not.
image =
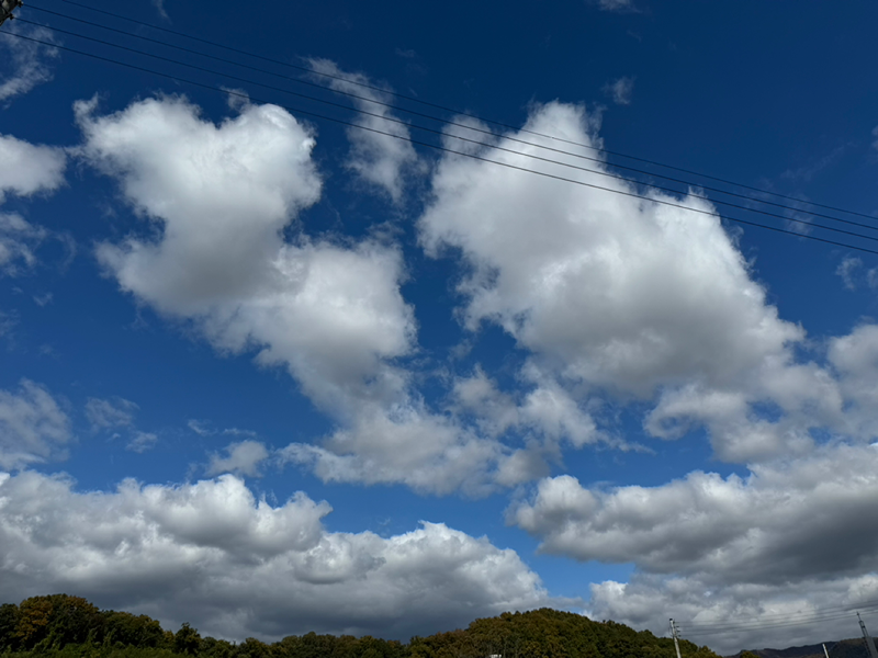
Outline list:
[[[341,118],[327,116],[327,115],[324,115],[324,114],[319,114],[317,112],[313,112],[313,111],[308,111],[308,110],[304,110],[304,109],[300,109],[300,107],[293,107],[293,106],[289,106],[289,105],[283,105],[283,104],[275,103],[273,101],[268,101],[268,100],[264,100],[264,99],[258,99],[258,98],[255,98],[255,97],[250,97],[247,93],[237,92],[237,91],[229,90],[229,89],[224,89],[222,87],[215,87],[213,84],[207,84],[205,82],[198,82],[195,80],[190,80],[188,78],[182,78],[182,77],[176,76],[176,75],[170,75],[170,73],[165,73],[165,72],[161,72],[161,71],[156,71],[154,69],[149,69],[149,68],[142,67],[142,66],[138,66],[138,65],[133,65],[133,64],[120,61],[117,59],[112,59],[110,57],[95,55],[93,53],[87,53],[85,50],[79,50],[79,49],[76,49],[76,48],[71,48],[69,46],[61,46],[59,44],[47,42],[47,41],[44,41],[44,39],[38,39],[38,38],[32,37],[32,36],[26,36],[26,35],[23,35],[23,34],[12,33],[12,32],[9,32],[9,31],[5,31],[5,30],[0,30],[0,33],[8,34],[8,35],[13,36],[15,38],[30,41],[32,43],[42,44],[44,46],[48,46],[48,47],[52,47],[52,48],[57,48],[59,50],[66,50],[68,53],[82,55],[85,57],[89,57],[89,58],[97,59],[97,60],[100,60],[100,61],[104,61],[104,63],[113,64],[113,65],[116,65],[116,66],[131,68],[133,70],[138,70],[140,72],[145,72],[145,73],[149,73],[149,75],[154,75],[154,76],[159,76],[159,77],[162,77],[162,78],[167,78],[169,80],[173,80],[176,82],[181,82],[181,83],[184,83],[184,84],[191,84],[193,87],[200,87],[202,89],[209,89],[211,91],[215,91],[215,92],[218,92],[218,93],[222,93],[222,94],[225,94],[225,95],[230,95],[230,97],[240,98],[240,99],[245,99],[245,100],[252,100],[252,101],[256,101],[256,102],[259,102],[259,103],[273,104],[273,105],[277,105],[277,106],[282,107],[284,110],[288,110],[289,112],[292,112],[292,113],[297,113],[297,114],[303,114],[303,115],[307,115],[307,116],[313,116],[315,118],[330,121],[330,122],[334,122],[334,123],[337,123],[337,124],[350,126],[350,127],[362,129],[362,131],[367,131],[367,132],[370,132],[370,133],[375,133],[375,134],[379,134],[379,135],[384,135],[384,136],[387,136],[387,137],[392,137],[394,139],[399,139],[399,140],[403,140],[403,141],[408,141],[408,143],[414,144],[414,145],[424,146],[426,148],[431,148],[434,150],[448,152],[448,154],[452,154],[452,155],[458,155],[458,156],[462,156],[462,157],[465,157],[465,158],[480,160],[480,161],[483,161],[483,162],[489,162],[489,163],[493,163],[493,164],[505,167],[507,169],[513,169],[513,170],[517,170],[517,171],[532,173],[532,174],[536,174],[536,175],[541,175],[543,178],[558,180],[558,181],[561,181],[561,182],[573,183],[573,184],[577,184],[577,185],[582,185],[582,186],[590,188],[590,189],[595,189],[595,190],[601,190],[601,191],[605,191],[605,192],[610,192],[612,194],[619,194],[621,196],[630,196],[630,197],[633,197],[633,198],[640,198],[642,201],[648,201],[650,203],[654,203],[654,204],[658,204],[658,205],[680,208],[680,209],[684,209],[684,211],[688,211],[688,212],[697,213],[697,214],[701,214],[701,215],[708,215],[710,217],[718,216],[716,213],[712,213],[710,211],[705,211],[705,209],[700,209],[700,208],[694,208],[694,207],[686,206],[686,205],[683,205],[683,204],[679,204],[679,203],[674,203],[674,202],[671,202],[671,201],[665,201],[665,200],[655,198],[655,197],[652,197],[652,196],[646,196],[644,194],[639,194],[637,192],[629,192],[629,191],[624,191],[624,190],[614,190],[612,188],[605,188],[605,186],[601,186],[601,185],[596,185],[594,183],[587,183],[585,181],[579,181],[579,180],[576,180],[576,179],[570,179],[570,178],[556,175],[556,174],[553,174],[553,173],[544,172],[544,171],[537,171],[537,170],[533,170],[533,169],[527,169],[526,167],[519,167],[517,164],[511,164],[509,162],[502,162],[502,161],[498,161],[498,160],[492,160],[491,158],[485,158],[483,156],[479,156],[479,155],[475,155],[475,154],[469,154],[469,152],[465,152],[465,151],[459,151],[459,150],[454,150],[452,148],[448,148],[448,147],[444,147],[444,146],[438,146],[438,145],[435,145],[435,144],[429,144],[429,143],[420,141],[420,140],[417,140],[417,139],[412,139],[410,137],[404,137],[404,136],[401,136],[401,135],[395,135],[393,133],[387,133],[385,131],[379,131],[378,128],[371,128],[369,126],[363,126],[363,125],[356,124],[356,123],[352,123],[352,122],[349,122],[349,121],[345,121],[345,120],[341,120]],[[349,109],[349,107],[346,107],[346,109]],[[480,143],[480,144],[482,144],[482,143]],[[513,151],[513,152],[517,152],[517,151]],[[518,154],[518,155],[522,155],[522,154]],[[745,208],[745,209],[747,209],[748,212],[753,212],[750,208]],[[821,238],[821,237],[809,235],[809,234],[788,230],[788,229],[780,228],[780,227],[777,227],[777,226],[759,224],[757,222],[750,222],[750,220],[746,220],[746,219],[742,219],[740,217],[722,216],[722,218],[724,218],[724,219],[727,219],[729,222],[734,222],[734,223],[742,224],[742,225],[745,225],[745,226],[758,227],[758,228],[763,228],[763,229],[770,230],[770,231],[774,231],[774,232],[785,234],[785,235],[795,236],[795,237],[799,237],[799,238],[807,239],[807,240],[814,240],[814,241],[823,242],[823,243],[826,243],[826,245],[833,245],[835,247],[843,247],[843,248],[846,248],[846,249],[853,249],[855,251],[862,251],[864,253],[873,253],[873,254],[877,254],[878,256],[878,250],[875,250],[875,249],[868,249],[868,248],[865,248],[865,247],[859,247],[859,246],[855,246],[855,245],[851,245],[851,243],[846,243],[846,242],[838,242],[836,240],[830,240],[830,239],[826,239],[826,238]],[[787,222],[796,222],[795,219],[789,218],[789,217],[783,217],[783,218],[786,219]],[[825,229],[825,230],[832,230],[832,231],[836,231],[836,232],[844,232],[844,234],[852,235],[852,236],[855,236],[855,237],[858,237],[858,238],[862,238],[862,239],[866,239],[866,240],[876,240],[877,239],[877,238],[871,237],[871,236],[864,236],[864,235],[860,235],[860,234],[854,234],[854,232],[845,231],[845,230],[842,230],[842,229],[838,229],[838,228],[829,227],[829,226],[822,226],[822,225],[812,224],[812,223],[809,223],[809,222],[799,220],[799,223],[807,224],[808,226],[813,227],[813,228],[822,228],[822,229]]]

